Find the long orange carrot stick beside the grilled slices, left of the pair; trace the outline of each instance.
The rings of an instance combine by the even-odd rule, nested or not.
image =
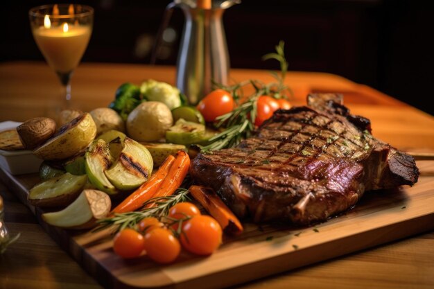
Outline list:
[[[162,186],[164,179],[175,162],[175,157],[169,155],[157,172],[147,182],[139,186],[139,189],[132,192],[121,204],[112,210],[112,213],[125,213],[139,209],[144,202],[153,198],[158,189]]]

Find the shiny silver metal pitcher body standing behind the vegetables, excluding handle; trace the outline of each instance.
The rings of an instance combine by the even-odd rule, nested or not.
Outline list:
[[[211,8],[199,8],[194,0],[175,0],[168,8],[184,11],[176,86],[196,105],[212,89],[212,82],[227,84],[229,54],[222,16],[238,0],[211,1]]]

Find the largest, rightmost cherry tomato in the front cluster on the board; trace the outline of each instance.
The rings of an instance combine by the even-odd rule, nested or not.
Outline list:
[[[210,216],[194,216],[182,226],[180,240],[187,251],[209,255],[222,243],[222,229]]]

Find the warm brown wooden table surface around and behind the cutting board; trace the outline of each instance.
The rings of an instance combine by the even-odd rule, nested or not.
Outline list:
[[[272,81],[267,71],[233,69],[232,79]],[[74,105],[105,107],[123,82],[175,82],[173,67],[80,64],[72,78]],[[434,152],[434,118],[365,85],[327,73],[290,72],[294,105],[310,91],[336,91],[354,114],[372,121],[373,134],[401,150]],[[60,84],[43,62],[0,64],[0,121],[25,121],[53,111]],[[433,172],[431,172],[433,173]],[[0,288],[101,288],[45,234],[24,204],[4,184],[6,226],[21,237],[0,255]],[[433,204],[434,206],[434,204]],[[252,281],[236,288],[434,288],[434,232],[395,241],[306,268]]]

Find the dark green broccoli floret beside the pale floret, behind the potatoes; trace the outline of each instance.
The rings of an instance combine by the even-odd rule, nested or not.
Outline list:
[[[127,82],[116,90],[114,101],[109,107],[118,112],[123,121],[126,121],[128,114],[143,101],[140,88]]]

